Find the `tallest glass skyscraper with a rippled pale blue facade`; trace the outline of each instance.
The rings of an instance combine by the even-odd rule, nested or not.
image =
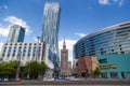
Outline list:
[[[58,58],[58,23],[60,4],[57,2],[47,2],[43,11],[43,25],[41,42],[50,45],[49,58],[57,64]]]

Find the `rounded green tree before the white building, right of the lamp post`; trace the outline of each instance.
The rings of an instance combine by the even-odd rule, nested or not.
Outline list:
[[[31,78],[37,78],[38,75],[43,75],[48,67],[46,63],[39,63],[37,61],[29,61],[25,66],[24,72],[29,75]]]

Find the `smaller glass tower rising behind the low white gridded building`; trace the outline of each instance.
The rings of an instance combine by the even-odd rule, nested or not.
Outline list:
[[[6,42],[24,42],[25,28],[20,25],[13,25],[10,28]]]

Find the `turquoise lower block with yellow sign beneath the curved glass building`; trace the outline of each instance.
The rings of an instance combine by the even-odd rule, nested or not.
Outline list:
[[[130,80],[130,54],[112,54],[98,56],[103,78]]]

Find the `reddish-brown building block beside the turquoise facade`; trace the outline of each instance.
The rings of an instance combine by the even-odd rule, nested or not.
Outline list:
[[[99,64],[96,57],[81,57],[77,61],[78,63],[78,75],[81,77],[89,76],[92,77],[92,71]]]

